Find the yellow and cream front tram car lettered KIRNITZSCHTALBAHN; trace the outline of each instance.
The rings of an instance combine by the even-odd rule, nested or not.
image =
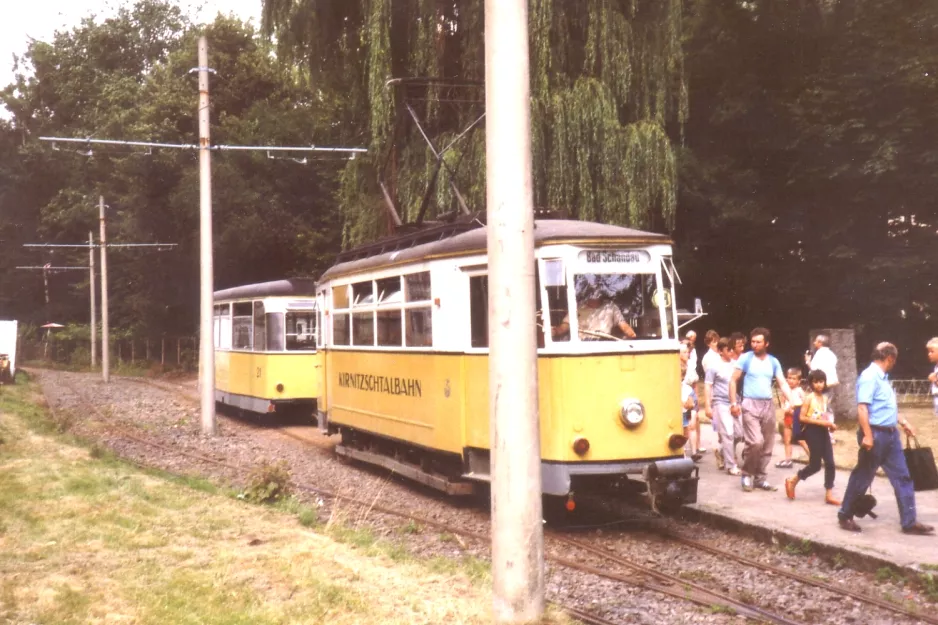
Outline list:
[[[569,507],[575,492],[626,482],[655,507],[695,502],[670,239],[567,220],[536,221],[534,238],[544,494]],[[319,420],[341,434],[337,452],[452,494],[488,482],[486,229],[440,227],[346,252],[317,289]],[[598,299],[635,338],[585,327]]]

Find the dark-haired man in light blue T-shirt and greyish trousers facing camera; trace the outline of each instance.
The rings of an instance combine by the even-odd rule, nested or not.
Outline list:
[[[730,412],[734,417],[742,414],[743,418],[743,440],[746,446],[743,449],[742,486],[746,492],[751,492],[753,488],[778,490],[765,479],[778,429],[775,425],[775,404],[772,403],[773,381],[778,382],[778,389],[788,403],[793,403],[782,365],[768,352],[771,339],[772,335],[766,328],[755,328],[749,333],[752,351],[736,361],[730,381]],[[737,403],[736,382],[740,378],[743,378],[743,401]]]

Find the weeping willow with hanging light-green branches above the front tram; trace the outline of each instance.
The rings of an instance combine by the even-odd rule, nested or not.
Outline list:
[[[687,115],[681,3],[530,0],[537,206],[591,221],[673,228],[673,139]],[[264,0],[263,27],[276,37],[281,58],[304,68],[311,89],[344,105],[336,122],[342,136],[369,146],[368,158],[350,162],[341,176],[346,242],[386,232],[379,171],[391,174],[401,217],[414,219],[436,160],[416,127],[400,123],[402,99],[386,83],[414,76],[481,82],[482,0]],[[427,87],[420,112],[441,146],[481,110],[439,95]],[[469,207],[484,210],[483,132],[446,153],[450,167],[439,171],[428,217],[454,208],[451,175]]]

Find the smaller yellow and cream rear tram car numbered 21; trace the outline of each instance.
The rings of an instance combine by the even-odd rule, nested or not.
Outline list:
[[[215,401],[315,418],[322,356],[316,286],[294,278],[214,294]]]

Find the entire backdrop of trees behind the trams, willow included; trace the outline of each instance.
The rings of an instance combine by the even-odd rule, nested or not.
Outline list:
[[[482,2],[258,0],[263,39],[230,18],[212,47],[213,142],[342,144],[367,158],[299,165],[214,158],[216,282],[316,273],[341,244],[386,231],[382,173],[413,219],[435,167],[391,77],[481,81]],[[531,0],[535,197],[574,216],[670,231],[682,305],[701,326],[765,324],[788,362],[818,327],[911,350],[938,334],[938,5],[925,0]],[[81,264],[21,243],[78,242],[99,194],[115,252],[118,325],[192,330],[195,154],[53,151],[40,135],[193,143],[195,37],[164,0],[30,45],[0,121],[0,314],[83,319],[86,283],[18,264]],[[435,87],[409,100],[438,145],[480,113]],[[414,95],[411,93],[410,95]],[[459,100],[460,98],[452,98]],[[484,125],[447,154],[484,207]],[[439,173],[429,216],[454,208]]]

